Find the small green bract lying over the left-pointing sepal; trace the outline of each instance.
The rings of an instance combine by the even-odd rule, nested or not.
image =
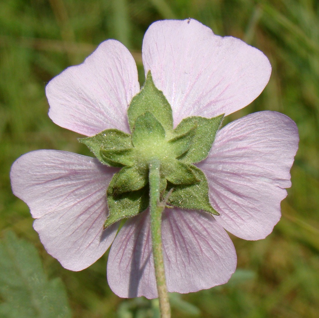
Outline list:
[[[134,148],[106,148],[100,149],[100,156],[103,163],[112,167],[132,166],[134,158],[132,157]]]

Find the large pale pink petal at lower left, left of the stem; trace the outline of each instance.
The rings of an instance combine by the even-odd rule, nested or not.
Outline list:
[[[117,226],[103,231],[103,224],[106,189],[117,170],[56,150],[29,152],[13,163],[12,191],[30,207],[42,244],[63,267],[80,271],[112,243]]]

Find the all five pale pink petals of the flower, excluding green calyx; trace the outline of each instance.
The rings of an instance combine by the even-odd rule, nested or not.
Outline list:
[[[153,23],[143,40],[150,70],[173,110],[174,126],[192,115],[215,117],[252,102],[268,83],[266,56],[233,37],[214,35],[196,20]],[[52,79],[49,116],[85,136],[116,128],[130,133],[126,112],[139,92],[137,68],[118,41],[100,44],[84,63]],[[209,155],[196,164],[208,181],[219,216],[166,209],[162,240],[170,292],[188,293],[224,284],[236,268],[225,229],[247,240],[271,233],[280,202],[291,186],[298,148],[295,123],[278,112],[257,112],[221,128]],[[30,207],[41,242],[63,267],[80,271],[111,246],[107,276],[121,297],[157,297],[149,213],[146,210],[103,230],[106,191],[118,168],[70,152],[37,150],[11,168],[13,193]],[[115,236],[116,235],[116,236]]]

